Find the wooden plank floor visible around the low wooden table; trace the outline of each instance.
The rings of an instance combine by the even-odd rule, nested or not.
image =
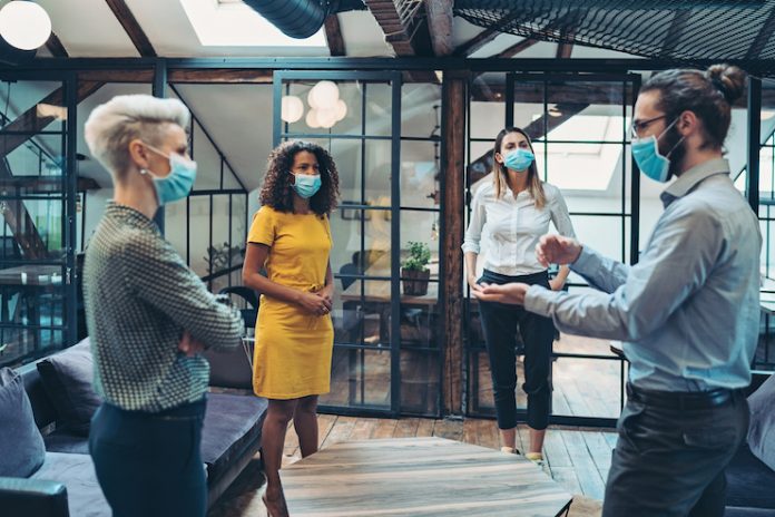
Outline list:
[[[318,427],[322,449],[347,440],[430,436],[499,448],[498,431],[492,420],[387,420],[321,414]],[[518,447],[524,450],[522,443],[527,441],[528,429],[520,427]],[[570,494],[601,500],[615,443],[614,432],[549,428],[545,445],[546,468]],[[293,429],[288,429],[283,465],[291,465],[298,459],[298,440]],[[208,517],[265,516],[261,501],[263,482],[259,464],[254,460],[209,511]]]

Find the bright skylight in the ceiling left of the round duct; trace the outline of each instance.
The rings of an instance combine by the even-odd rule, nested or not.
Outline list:
[[[196,36],[205,47],[327,48],[323,30],[294,39],[236,0],[180,0]]]

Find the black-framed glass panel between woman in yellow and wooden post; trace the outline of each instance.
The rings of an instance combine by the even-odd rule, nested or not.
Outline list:
[[[274,98],[275,144],[317,143],[340,175],[322,409],[439,416],[440,85],[404,85],[399,72],[276,72]],[[406,277],[412,250],[424,252],[425,280]]]

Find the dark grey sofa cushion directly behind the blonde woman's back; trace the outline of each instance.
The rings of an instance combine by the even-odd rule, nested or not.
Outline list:
[[[101,402],[91,386],[94,370],[88,339],[38,362],[38,372],[57,410],[58,423],[85,437],[89,435],[91,417]]]

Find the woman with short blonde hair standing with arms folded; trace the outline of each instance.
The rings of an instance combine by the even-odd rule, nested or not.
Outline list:
[[[209,364],[205,348],[241,344],[239,312],[215,301],[153,218],[196,178],[188,109],[175,99],[120,96],[86,121],[91,154],[110,172],[114,199],[86,252],[84,296],[104,402],[89,451],[114,516],[199,516]]]

